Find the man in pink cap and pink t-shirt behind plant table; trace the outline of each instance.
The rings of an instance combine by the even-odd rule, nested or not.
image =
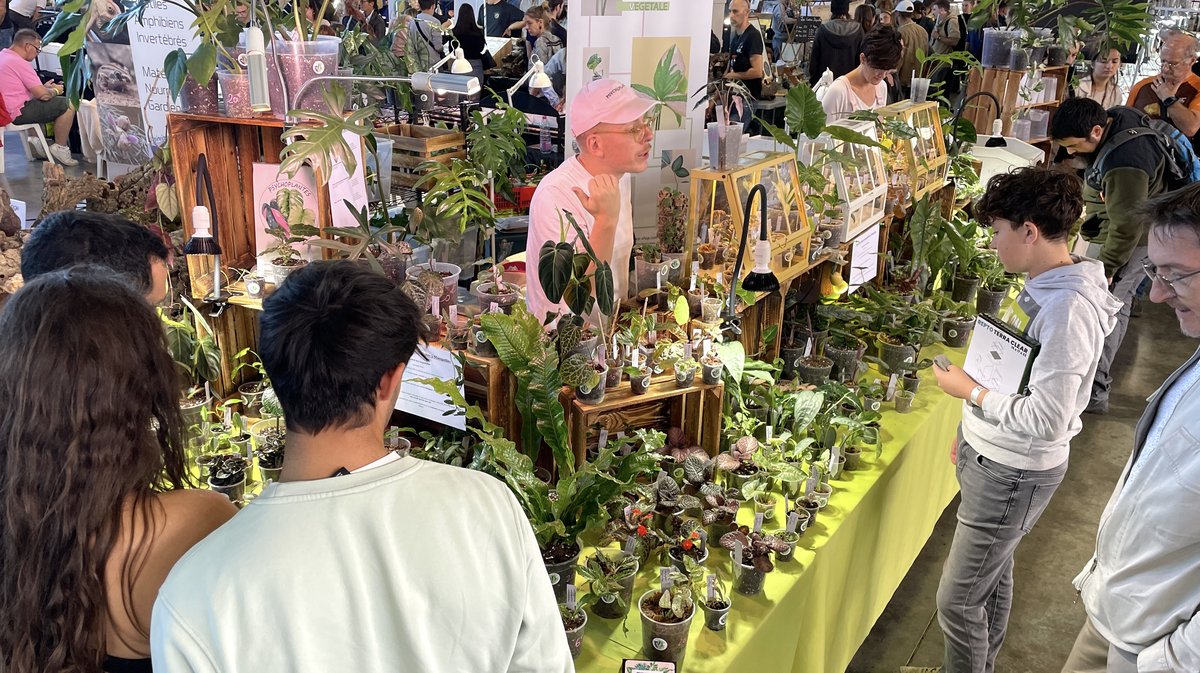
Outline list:
[[[560,211],[570,212],[587,232],[601,262],[612,266],[618,301],[629,293],[629,256],[634,250],[634,208],[630,173],[641,173],[650,158],[654,127],[646,119],[654,101],[612,79],[588,83],[571,101],[568,115],[580,154],[552,170],[533,194],[526,240],[526,304],[538,318],[566,313],[551,304],[538,281],[538,251],[562,238]],[[566,240],[575,241],[566,227]]]

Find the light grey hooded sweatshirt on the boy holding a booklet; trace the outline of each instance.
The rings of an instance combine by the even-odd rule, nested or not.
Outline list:
[[[1075,264],[1026,281],[1002,318],[1038,339],[1028,395],[989,392],[983,409],[962,404],[962,438],[979,455],[1022,470],[1063,464],[1092,390],[1104,337],[1121,302],[1108,290],[1104,265]]]

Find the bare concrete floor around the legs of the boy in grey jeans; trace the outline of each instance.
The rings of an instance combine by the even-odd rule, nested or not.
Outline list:
[[[1180,334],[1175,313],[1144,302],[1133,318],[1114,366],[1115,387],[1105,416],[1084,415],[1072,441],[1070,468],[1042,519],[1016,552],[1015,590],[1008,637],[996,659],[1003,673],[1061,669],[1079,629],[1082,607],[1072,578],[1091,558],[1096,528],[1133,450],[1133,429],[1148,397],[1195,350]],[[848,673],[895,673],[901,666],[941,666],[937,582],[954,536],[958,499],[859,648]]]

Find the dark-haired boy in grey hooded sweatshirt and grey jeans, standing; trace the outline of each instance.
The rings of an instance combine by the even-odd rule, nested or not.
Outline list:
[[[1013,601],[1013,554],[1067,473],[1104,337],[1121,310],[1104,266],[1067,247],[1082,187],[1068,173],[1020,168],[989,180],[976,206],[1004,269],[1026,275],[1001,316],[1042,348],[1027,395],[988,390],[955,366],[934,367],[941,389],[964,399],[950,450],[962,492],[959,524],[937,589],[944,673],[995,667]]]

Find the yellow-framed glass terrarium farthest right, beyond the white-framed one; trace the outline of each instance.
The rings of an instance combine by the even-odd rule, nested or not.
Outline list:
[[[884,144],[890,142],[895,149],[892,180],[906,187],[913,200],[941,188],[946,184],[949,161],[946,156],[946,137],[942,136],[937,103],[900,101],[876,112],[884,120],[884,136],[888,136],[889,131],[886,121],[888,119],[902,121],[908,126],[905,133],[893,133],[890,138],[884,138]]]

